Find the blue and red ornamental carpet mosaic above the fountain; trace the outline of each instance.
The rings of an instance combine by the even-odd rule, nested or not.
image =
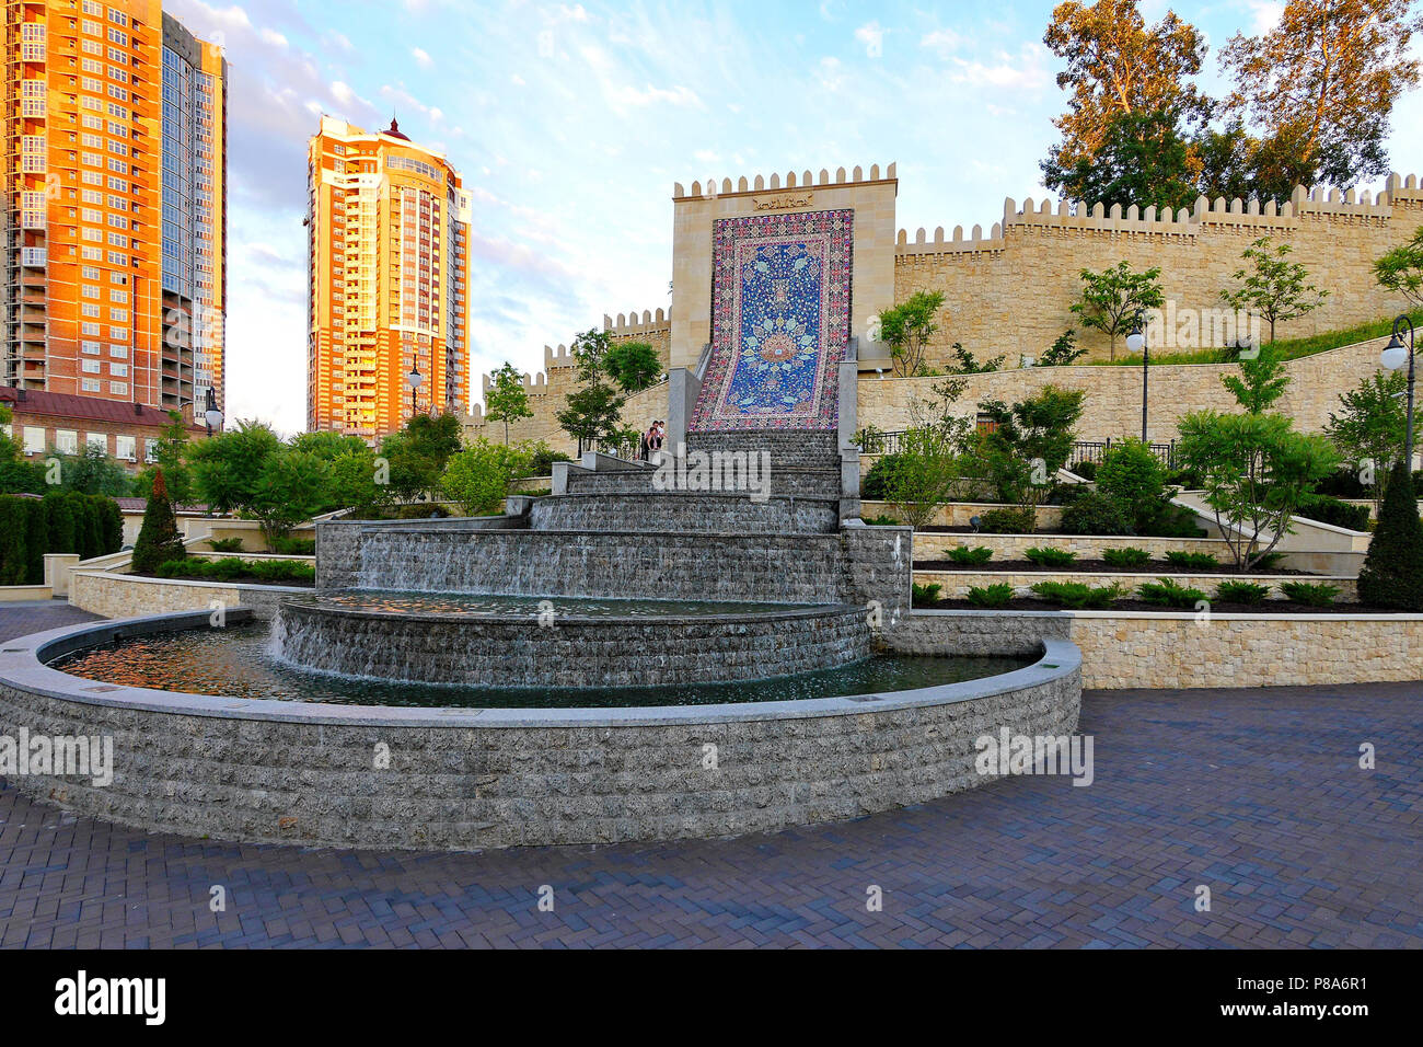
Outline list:
[[[854,217],[847,209],[716,222],[712,359],[693,432],[835,429]]]

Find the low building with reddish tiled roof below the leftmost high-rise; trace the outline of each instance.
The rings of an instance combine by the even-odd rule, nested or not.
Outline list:
[[[168,412],[142,403],[14,386],[0,386],[0,405],[10,409],[6,429],[27,459],[44,457],[51,450],[74,454],[94,444],[129,472],[154,460],[164,429],[172,423]],[[192,422],[191,406],[184,415],[188,439],[205,439],[208,427]]]

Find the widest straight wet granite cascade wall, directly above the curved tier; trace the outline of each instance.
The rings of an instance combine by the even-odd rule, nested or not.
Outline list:
[[[371,527],[357,547],[357,588],[504,595],[844,601],[834,534],[487,531]],[[322,563],[317,554],[317,564]],[[319,575],[322,585],[336,571]],[[351,577],[351,575],[347,575]]]

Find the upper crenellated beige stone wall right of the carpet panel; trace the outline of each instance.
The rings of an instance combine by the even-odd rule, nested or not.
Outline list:
[[[979,226],[968,236],[962,226],[952,236],[942,226],[933,236],[901,231],[894,301],[916,291],[945,293],[941,329],[928,352],[935,366],[949,360],[953,342],[979,359],[1006,355],[1007,366],[1016,366],[1020,355],[1040,356],[1067,328],[1077,329],[1093,358],[1104,358],[1107,338],[1084,330],[1069,311],[1081,292],[1081,269],[1120,261],[1137,271],[1160,266],[1163,292],[1178,308],[1217,309],[1221,291],[1238,283],[1232,274],[1241,268],[1241,252],[1271,236],[1288,242],[1294,261],[1331,292],[1321,309],[1279,325],[1278,338],[1350,328],[1406,308],[1405,299],[1377,288],[1372,264],[1423,225],[1423,191],[1414,177],[1390,179],[1377,201],[1368,194],[1355,201],[1352,191],[1340,197],[1296,189],[1278,214],[1272,205],[1258,211],[1239,201],[1207,205],[1202,198],[1192,212],[1161,221],[1154,208],[1138,215],[1133,207],[1123,215],[1117,207],[1104,214],[1100,205],[1090,211],[1077,205],[1069,215],[1066,205],[1052,211],[1047,201],[1035,207],[1026,199],[1019,207],[1007,199],[1002,224],[988,236]]]

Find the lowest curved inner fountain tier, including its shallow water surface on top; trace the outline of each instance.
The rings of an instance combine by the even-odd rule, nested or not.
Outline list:
[[[283,661],[461,687],[659,687],[788,677],[867,658],[854,604],[339,591],[283,600]]]

